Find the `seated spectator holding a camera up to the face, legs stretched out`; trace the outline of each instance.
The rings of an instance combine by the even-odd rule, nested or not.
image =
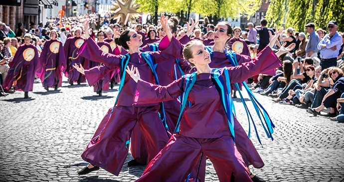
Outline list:
[[[305,66],[308,67],[310,65],[313,65],[313,60],[311,58],[307,58],[304,60]],[[293,80],[290,81],[290,83],[283,89],[282,93],[277,97],[272,99],[274,102],[280,102],[283,99],[287,98],[289,95],[289,90],[296,89],[295,87],[302,87],[302,84],[309,83],[309,81],[312,79],[305,71],[302,66],[302,62],[300,61],[294,61],[294,72],[293,72]],[[298,74],[298,68],[300,67],[300,73]],[[313,75],[314,76],[314,75]],[[301,79],[301,80],[297,80]]]

